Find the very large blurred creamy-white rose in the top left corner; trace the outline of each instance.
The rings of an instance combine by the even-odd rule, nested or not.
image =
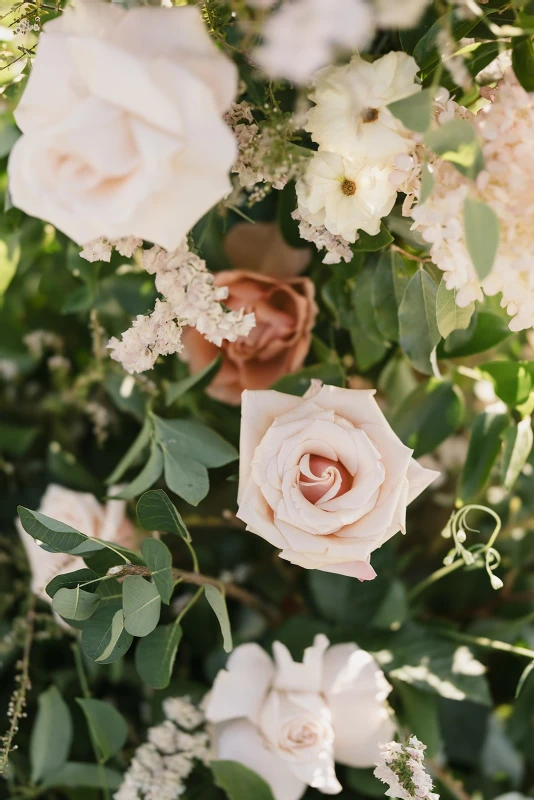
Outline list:
[[[172,250],[231,189],[237,73],[193,7],[80,2],[47,23],[15,112],[13,204],[78,244]]]

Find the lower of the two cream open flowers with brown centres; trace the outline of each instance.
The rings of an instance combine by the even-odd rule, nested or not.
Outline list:
[[[358,230],[375,236],[397,196],[390,172],[319,151],[297,182],[300,216],[314,226],[324,225],[347,242],[356,241]]]

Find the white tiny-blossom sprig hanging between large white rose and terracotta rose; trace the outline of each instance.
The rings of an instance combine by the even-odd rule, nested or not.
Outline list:
[[[235,342],[248,336],[256,324],[254,314],[222,305],[228,288],[214,285],[206,263],[185,242],[171,253],[157,246],[145,250],[143,266],[155,274],[156,288],[165,300],[156,300],[148,316],[140,314],[121,340],[110,340],[111,357],[128,372],[152,369],[158,356],[181,352],[185,325],[220,347],[223,339]]]

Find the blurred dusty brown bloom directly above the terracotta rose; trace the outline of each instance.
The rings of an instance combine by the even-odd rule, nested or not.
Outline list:
[[[238,222],[224,237],[224,252],[234,269],[273,278],[295,278],[310,263],[308,247],[290,247],[276,222]]]

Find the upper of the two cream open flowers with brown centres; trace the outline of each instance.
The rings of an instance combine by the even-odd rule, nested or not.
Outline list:
[[[317,73],[305,129],[321,149],[345,158],[390,163],[414,147],[413,139],[387,106],[420,90],[415,60],[391,52],[372,64],[354,56],[346,66]]]

